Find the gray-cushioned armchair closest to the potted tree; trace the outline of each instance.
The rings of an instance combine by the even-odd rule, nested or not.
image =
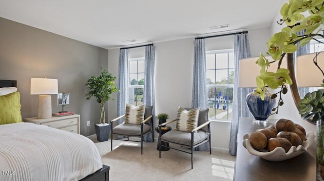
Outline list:
[[[117,118],[114,118],[110,121],[110,132],[111,132],[111,151],[112,151],[112,140],[113,135],[119,135],[127,137],[127,140],[125,141],[132,141],[129,140],[129,137],[139,137],[141,138],[141,154],[143,154],[143,138],[146,134],[152,133],[154,138],[154,129],[153,129],[153,115],[152,115],[152,108],[153,106],[146,106],[145,107],[145,113],[144,113],[144,120],[139,124],[125,124],[122,123],[120,125],[117,125],[113,128],[113,122],[125,117],[124,115],[121,115]],[[114,139],[114,140],[121,140],[121,139]],[[139,142],[139,141],[135,141]],[[154,139],[153,139],[154,142]]]

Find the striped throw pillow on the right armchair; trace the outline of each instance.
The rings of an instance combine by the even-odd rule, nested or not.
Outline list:
[[[199,108],[186,110],[182,107],[178,109],[177,125],[175,130],[190,132],[197,128],[199,117]]]

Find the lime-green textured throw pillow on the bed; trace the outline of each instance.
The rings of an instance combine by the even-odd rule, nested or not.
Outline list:
[[[20,93],[0,96],[0,125],[21,122]]]

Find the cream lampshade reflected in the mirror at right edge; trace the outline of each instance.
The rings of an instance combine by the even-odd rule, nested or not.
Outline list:
[[[324,76],[315,66],[313,59],[316,53],[305,54],[297,57],[296,81],[298,87],[320,87]],[[317,65],[324,71],[324,51],[317,55]]]

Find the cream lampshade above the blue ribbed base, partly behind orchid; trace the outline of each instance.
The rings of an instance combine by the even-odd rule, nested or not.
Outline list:
[[[265,56],[269,62],[273,62],[271,56]],[[259,57],[244,58],[238,65],[238,87],[257,87],[256,77],[260,75],[261,67],[256,64]],[[270,64],[268,72],[276,72],[279,61]],[[286,59],[282,59],[280,68],[287,69]]]

